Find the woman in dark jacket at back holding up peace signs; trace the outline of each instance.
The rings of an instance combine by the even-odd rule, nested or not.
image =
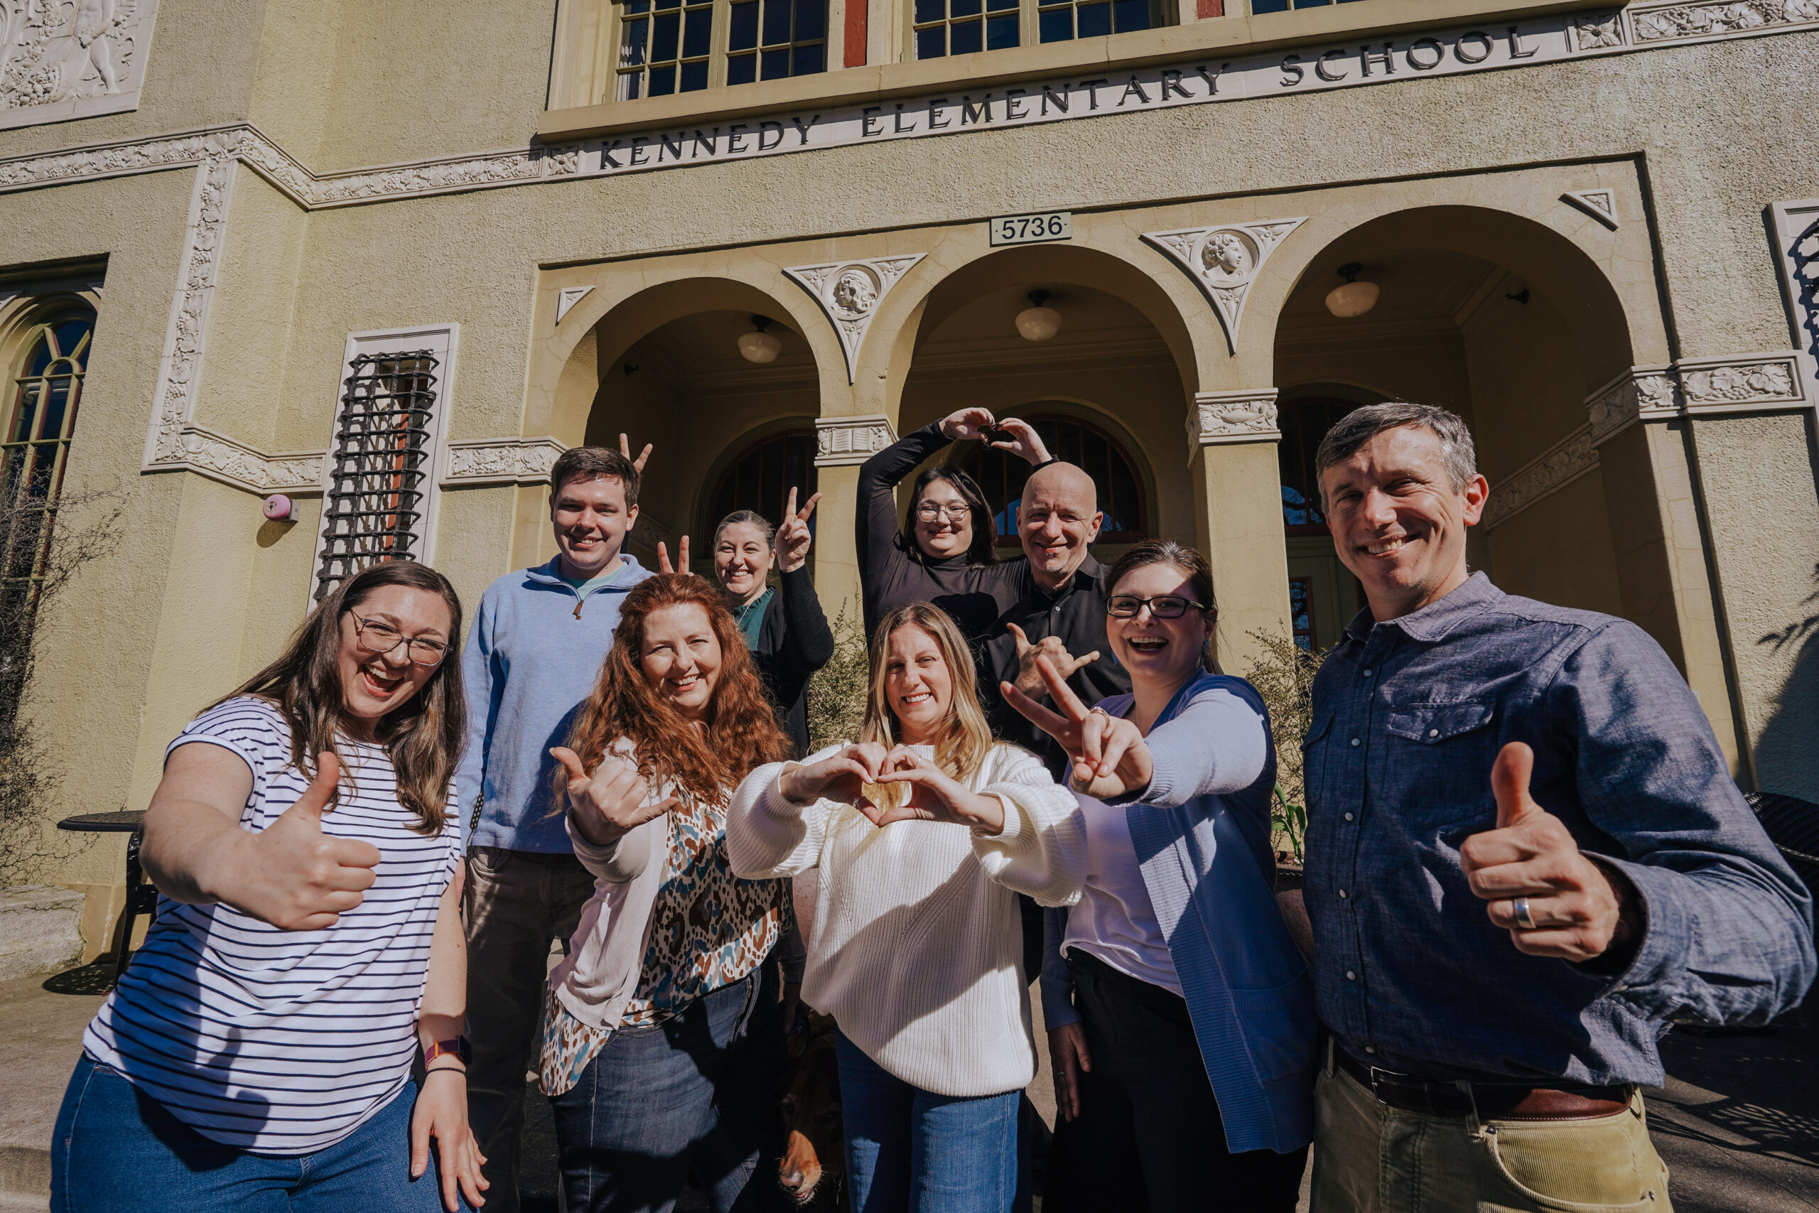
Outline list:
[[[764,691],[777,706],[777,720],[800,757],[809,751],[808,680],[833,657],[833,631],[806,567],[808,520],[820,493],[800,511],[795,500],[789,489],[780,531],[751,509],[720,518],[713,531],[713,575],[746,637]],[[768,584],[773,564],[779,587]]]

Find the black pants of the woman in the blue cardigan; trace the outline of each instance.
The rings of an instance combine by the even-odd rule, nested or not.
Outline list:
[[[1042,1213],[1293,1213],[1308,1148],[1226,1151],[1213,1086],[1181,995],[1073,949],[1091,1073],[1055,1124]]]

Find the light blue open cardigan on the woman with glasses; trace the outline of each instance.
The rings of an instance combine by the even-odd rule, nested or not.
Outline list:
[[[1122,717],[1131,697],[1099,706]],[[1319,1026],[1313,982],[1275,904],[1270,715],[1242,678],[1201,675],[1175,693],[1148,742],[1150,787],[1108,804],[1128,809],[1226,1149],[1299,1149],[1313,1140]],[[1042,1015],[1060,1028],[1080,1018],[1060,955],[1068,911],[1046,915]]]

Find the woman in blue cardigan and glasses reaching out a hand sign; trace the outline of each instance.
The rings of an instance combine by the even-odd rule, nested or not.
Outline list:
[[[1290,1213],[1313,1137],[1315,1018],[1273,891],[1270,713],[1211,673],[1219,611],[1199,551],[1137,544],[1106,587],[1130,695],[1088,711],[1048,658],[1059,713],[1000,686],[1060,742],[1086,817],[1086,889],[1048,913],[1042,964],[1055,1106],[1080,1124],[1057,1133],[1042,1208],[1188,1209],[1219,1193]]]

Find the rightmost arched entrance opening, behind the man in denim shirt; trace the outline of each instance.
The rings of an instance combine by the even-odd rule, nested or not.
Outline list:
[[[1328,307],[1342,266],[1381,289],[1364,315]],[[1628,349],[1603,273],[1563,236],[1513,215],[1404,211],[1322,249],[1275,335],[1290,591],[1308,606],[1297,629],[1304,642],[1333,644],[1361,606],[1324,535],[1313,449],[1333,420],[1379,400],[1439,404],[1472,426],[1492,484],[1492,506],[1468,538],[1473,567],[1510,593],[1626,615],[1606,469],[1590,442],[1577,466],[1552,464],[1563,444],[1583,438],[1586,396],[1628,369]],[[1570,551],[1563,535],[1573,536]]]

